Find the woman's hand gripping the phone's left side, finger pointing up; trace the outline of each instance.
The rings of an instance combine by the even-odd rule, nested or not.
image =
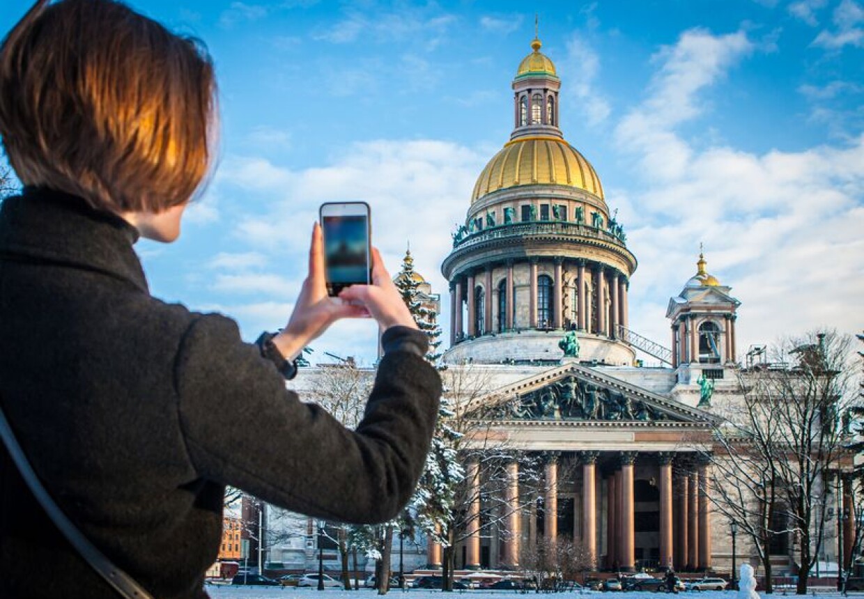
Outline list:
[[[309,342],[327,331],[327,328],[340,318],[369,318],[365,307],[354,306],[340,298],[327,295],[323,245],[321,227],[315,223],[312,244],[309,247],[309,272],[306,281],[303,281],[288,325],[273,337],[273,343],[286,360],[299,356]]]

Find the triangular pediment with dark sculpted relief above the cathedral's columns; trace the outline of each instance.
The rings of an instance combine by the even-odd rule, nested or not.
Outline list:
[[[497,420],[585,425],[713,426],[715,416],[576,363],[496,389],[477,413]]]

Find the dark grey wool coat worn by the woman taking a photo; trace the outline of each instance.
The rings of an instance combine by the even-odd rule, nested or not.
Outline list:
[[[28,189],[0,210],[0,402],[79,529],[170,599],[206,596],[225,485],[327,520],[394,517],[422,470],[441,393],[412,337],[422,334],[385,335],[350,431],[286,390],[231,319],[151,297],[136,240],[122,219],[56,192]],[[0,597],[116,597],[4,449]]]

